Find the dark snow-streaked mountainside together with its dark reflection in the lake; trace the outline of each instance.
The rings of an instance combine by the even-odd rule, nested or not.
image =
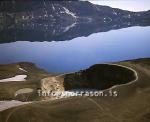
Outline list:
[[[97,32],[149,25],[150,11],[130,12],[87,1],[0,2],[0,43],[64,41]]]

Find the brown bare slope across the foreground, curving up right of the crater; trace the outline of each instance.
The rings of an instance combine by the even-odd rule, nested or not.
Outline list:
[[[112,88],[118,97],[73,97],[35,102],[0,113],[1,122],[150,122],[150,59],[118,64],[133,68],[138,79]],[[109,90],[107,90],[109,91]]]

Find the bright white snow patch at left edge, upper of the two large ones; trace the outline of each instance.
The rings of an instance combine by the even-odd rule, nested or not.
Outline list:
[[[0,82],[10,82],[10,81],[26,81],[27,75],[16,75],[12,78],[1,79]]]

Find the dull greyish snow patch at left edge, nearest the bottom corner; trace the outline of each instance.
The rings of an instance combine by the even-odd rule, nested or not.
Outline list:
[[[0,101],[0,111],[6,110],[12,107],[16,107],[16,106],[28,104],[28,103],[31,103],[31,102],[21,102],[21,101],[16,101],[16,100]]]

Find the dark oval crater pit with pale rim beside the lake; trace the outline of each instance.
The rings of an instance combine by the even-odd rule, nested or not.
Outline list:
[[[79,72],[64,76],[65,90],[105,90],[137,79],[136,71],[117,64],[96,64]]]

